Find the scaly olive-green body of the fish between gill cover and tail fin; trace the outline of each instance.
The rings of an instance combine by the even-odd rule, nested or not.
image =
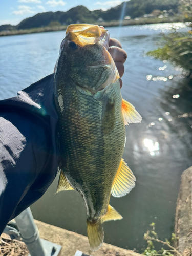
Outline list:
[[[106,104],[106,101],[109,101]],[[124,150],[125,126],[119,83],[101,99],[65,90],[59,117],[62,170],[83,197],[87,217],[106,214]]]

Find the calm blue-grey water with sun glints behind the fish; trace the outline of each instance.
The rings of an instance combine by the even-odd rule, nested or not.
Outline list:
[[[169,32],[170,26],[109,29],[127,52],[122,96],[143,120],[126,128],[123,155],[137,178],[136,187],[125,197],[111,197],[110,204],[123,220],[104,223],[104,241],[138,251],[151,222],[156,223],[159,238],[171,236],[180,176],[192,165],[192,93],[182,78],[185,71],[145,56],[157,48],[160,33]],[[183,24],[176,26],[184,29]],[[50,32],[0,37],[0,99],[15,96],[52,73],[64,36]],[[86,235],[83,200],[75,191],[55,195],[57,182],[58,177],[31,206],[34,218]]]

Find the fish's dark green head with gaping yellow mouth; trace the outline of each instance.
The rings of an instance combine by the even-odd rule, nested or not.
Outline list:
[[[119,73],[108,52],[109,39],[109,32],[98,25],[68,26],[55,75],[67,75],[76,86],[92,94],[115,82]]]

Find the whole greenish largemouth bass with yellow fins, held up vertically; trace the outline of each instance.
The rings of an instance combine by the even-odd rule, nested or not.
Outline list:
[[[142,119],[121,97],[109,40],[109,31],[98,25],[69,25],[54,78],[61,155],[57,192],[76,190],[82,196],[93,251],[103,243],[102,223],[122,219],[109,204],[111,194],[122,197],[135,186],[122,159],[125,124]]]

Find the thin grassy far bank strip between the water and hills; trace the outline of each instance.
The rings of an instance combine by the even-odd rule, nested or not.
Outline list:
[[[98,22],[99,26],[103,27],[118,27],[118,26],[134,26],[134,25],[150,25],[158,23],[176,23],[184,22],[183,16],[178,17],[168,17],[168,18],[138,18],[138,19],[127,19],[127,20],[114,20],[112,22]],[[97,23],[97,22],[96,22]],[[10,35],[24,35],[24,34],[33,34],[33,33],[44,33],[44,32],[54,32],[54,31],[63,31],[66,30],[68,25],[63,26],[53,26],[53,27],[40,27],[40,28],[31,28],[24,30],[11,30],[11,31],[2,31],[0,36],[10,36]]]

